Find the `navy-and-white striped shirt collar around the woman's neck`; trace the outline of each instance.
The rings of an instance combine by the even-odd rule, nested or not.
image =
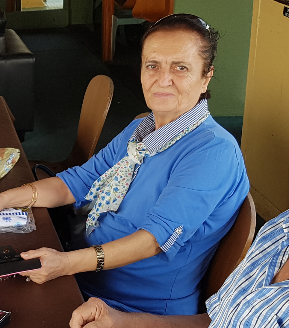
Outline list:
[[[153,153],[160,149],[174,136],[180,134],[184,129],[196,123],[208,111],[207,99],[202,99],[189,112],[182,114],[174,121],[155,130],[154,114],[150,113],[137,126],[130,140],[143,142],[149,153]]]

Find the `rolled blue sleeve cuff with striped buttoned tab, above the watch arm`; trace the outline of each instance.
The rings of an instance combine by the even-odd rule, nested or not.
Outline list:
[[[144,222],[141,227],[138,227],[138,230],[144,229],[155,236],[163,251],[158,256],[167,262],[170,262],[179,249],[184,246],[180,238],[183,233],[183,225],[177,226],[174,224],[173,222],[163,222],[161,219],[154,217],[154,219],[150,219],[149,222]]]

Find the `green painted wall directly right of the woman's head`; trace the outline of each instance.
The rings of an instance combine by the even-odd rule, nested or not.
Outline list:
[[[202,17],[219,30],[211,80],[210,112],[214,116],[242,116],[250,46],[253,0],[175,0],[174,12]]]

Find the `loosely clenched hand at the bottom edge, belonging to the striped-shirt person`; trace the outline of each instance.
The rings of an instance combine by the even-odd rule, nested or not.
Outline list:
[[[101,299],[91,297],[72,313],[71,328],[128,328],[127,314],[115,310]]]

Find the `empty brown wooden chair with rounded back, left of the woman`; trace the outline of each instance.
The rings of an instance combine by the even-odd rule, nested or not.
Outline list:
[[[106,75],[95,76],[89,82],[83,98],[77,138],[69,157],[62,162],[29,161],[30,167],[32,168],[35,164],[43,164],[53,172],[59,173],[69,167],[86,162],[95,150],[112,95],[111,78]]]

